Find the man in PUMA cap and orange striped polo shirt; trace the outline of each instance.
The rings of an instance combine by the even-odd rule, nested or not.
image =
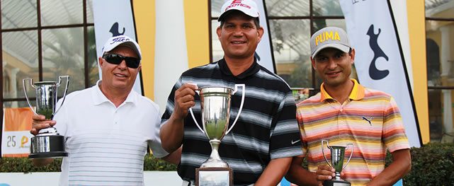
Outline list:
[[[350,79],[355,50],[341,28],[323,28],[310,43],[312,67],[323,83],[320,93],[297,104],[303,156],[293,158],[286,178],[298,185],[322,185],[334,178],[334,168],[324,159],[324,155],[330,159],[326,143],[322,148],[325,140],[329,146],[353,143],[351,161],[341,172],[343,180],[351,185],[394,184],[412,167],[394,98]],[[385,168],[387,150],[393,162]],[[351,148],[346,149],[344,159],[350,154]],[[304,156],[309,170],[301,166]]]

